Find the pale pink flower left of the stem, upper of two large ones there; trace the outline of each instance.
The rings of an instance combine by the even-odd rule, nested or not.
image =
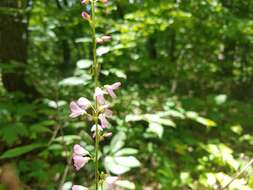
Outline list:
[[[91,106],[91,103],[88,99],[81,97],[77,100],[77,102],[72,101],[70,103],[70,111],[71,114],[69,117],[76,118],[80,115],[86,113],[86,110]]]

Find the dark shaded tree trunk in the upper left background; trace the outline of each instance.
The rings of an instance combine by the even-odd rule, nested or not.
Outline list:
[[[37,90],[26,81],[28,57],[28,16],[22,10],[23,0],[0,1],[0,64],[2,82],[9,92],[19,91],[38,96]],[[3,11],[3,10],[7,11]]]

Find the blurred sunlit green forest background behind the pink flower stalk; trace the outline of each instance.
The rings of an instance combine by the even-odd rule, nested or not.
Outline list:
[[[253,1],[99,6],[97,32],[113,37],[97,48],[100,80],[122,83],[107,170],[128,189],[221,189],[253,157]],[[82,10],[79,0],[0,1],[1,190],[94,179],[92,164],[76,174],[69,159],[73,144],[93,144],[89,123],[68,117],[94,88]],[[253,168],[228,189],[253,189]]]

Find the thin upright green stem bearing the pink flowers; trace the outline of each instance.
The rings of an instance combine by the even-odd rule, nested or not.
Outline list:
[[[97,63],[97,44],[96,44],[96,19],[95,19],[95,0],[91,1],[91,14],[92,14],[92,43],[93,43],[93,74],[95,80],[95,88],[98,87],[98,78],[99,78],[99,64]],[[96,109],[98,107],[97,99],[96,101]],[[99,151],[99,131],[98,131],[98,114],[95,113],[95,125],[96,125],[96,137],[95,137],[95,183],[96,183],[96,190],[98,190],[98,183],[99,183],[99,171],[98,171],[98,151]]]

